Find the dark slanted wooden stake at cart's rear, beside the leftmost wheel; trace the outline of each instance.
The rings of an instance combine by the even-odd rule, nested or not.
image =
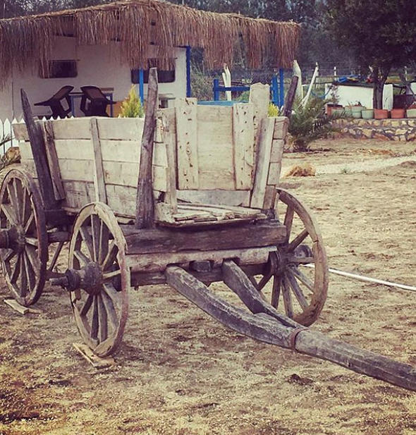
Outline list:
[[[22,99],[23,117],[25,118],[27,135],[29,136],[30,148],[32,149],[33,160],[35,161],[39,189],[44,207],[47,210],[57,209],[43,132],[41,128],[39,128],[39,125],[35,123],[29,99],[23,89],[20,89],[20,97]]]

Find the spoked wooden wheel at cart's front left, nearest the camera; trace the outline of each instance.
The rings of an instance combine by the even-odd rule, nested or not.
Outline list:
[[[67,274],[78,281],[72,283],[71,304],[83,340],[102,357],[121,343],[128,317],[130,271],[125,246],[106,204],[88,204],[80,211],[69,248]]]

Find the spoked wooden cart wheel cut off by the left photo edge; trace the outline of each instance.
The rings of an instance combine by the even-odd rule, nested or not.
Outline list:
[[[39,299],[47,276],[48,237],[34,180],[20,169],[0,189],[0,259],[13,298],[25,307]]]

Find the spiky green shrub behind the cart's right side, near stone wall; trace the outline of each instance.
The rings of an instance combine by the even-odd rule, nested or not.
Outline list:
[[[292,136],[295,151],[308,151],[312,141],[322,139],[329,133],[339,131],[332,121],[344,118],[342,114],[327,116],[326,100],[310,99],[305,106],[296,101],[290,116],[289,133]]]

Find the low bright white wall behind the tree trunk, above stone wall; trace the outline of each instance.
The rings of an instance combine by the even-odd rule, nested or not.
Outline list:
[[[325,93],[329,91],[331,85],[325,85]],[[365,86],[348,86],[338,85],[334,90],[329,92],[328,98],[336,97],[338,104],[349,106],[360,102],[362,106],[368,109],[373,108],[373,88]],[[393,107],[393,85],[384,85],[383,91],[383,109],[391,110]]]

